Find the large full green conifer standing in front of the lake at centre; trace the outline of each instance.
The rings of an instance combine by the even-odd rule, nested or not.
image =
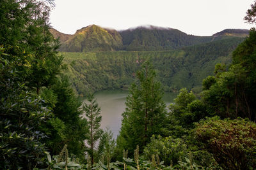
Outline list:
[[[126,99],[122,114],[122,127],[117,139],[118,147],[130,152],[137,145],[145,145],[152,134],[161,134],[166,117],[163,89],[156,80],[156,71],[149,62],[144,62],[136,74]]]

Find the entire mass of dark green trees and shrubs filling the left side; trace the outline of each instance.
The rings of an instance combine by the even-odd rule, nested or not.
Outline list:
[[[58,79],[63,57],[49,32],[52,6],[51,0],[0,3],[2,169],[44,167],[45,145],[54,153],[68,143],[83,155],[86,121],[68,79]]]

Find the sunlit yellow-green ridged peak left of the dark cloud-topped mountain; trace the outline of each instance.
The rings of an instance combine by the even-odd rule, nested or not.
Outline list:
[[[122,37],[113,29],[104,29],[89,25],[76,31],[61,45],[65,52],[100,52],[118,50],[122,46]]]

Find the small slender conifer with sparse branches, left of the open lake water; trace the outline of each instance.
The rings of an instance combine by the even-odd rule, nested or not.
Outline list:
[[[88,153],[91,156],[93,164],[95,142],[98,141],[103,132],[102,129],[100,129],[100,122],[102,119],[100,116],[100,108],[93,94],[88,95],[88,103],[84,103],[83,111],[84,117],[86,117],[88,121],[89,133],[87,136],[87,144],[90,146]]]

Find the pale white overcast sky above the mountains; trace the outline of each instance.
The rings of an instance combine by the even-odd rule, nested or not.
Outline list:
[[[88,25],[116,30],[140,25],[179,29],[211,36],[223,29],[250,29],[243,20],[253,0],[55,0],[50,22],[54,29],[74,34]]]

